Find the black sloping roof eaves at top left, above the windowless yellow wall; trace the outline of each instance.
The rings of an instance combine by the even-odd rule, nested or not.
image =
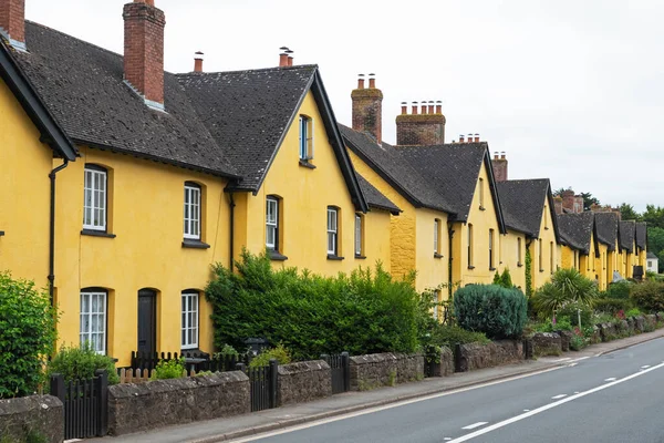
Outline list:
[[[43,104],[28,78],[23,75],[11,55],[11,51],[4,39],[0,37],[0,78],[7,83],[30,120],[40,130],[42,142],[48,143],[60,156],[74,162],[77,157],[74,144]]]

